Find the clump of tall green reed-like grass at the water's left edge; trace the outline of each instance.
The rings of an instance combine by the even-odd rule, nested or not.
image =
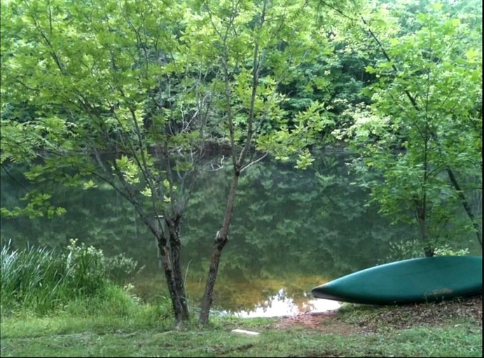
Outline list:
[[[102,251],[75,240],[63,252],[11,250],[8,243],[1,248],[0,263],[2,315],[20,308],[48,313],[73,299],[95,296],[109,283]]]

